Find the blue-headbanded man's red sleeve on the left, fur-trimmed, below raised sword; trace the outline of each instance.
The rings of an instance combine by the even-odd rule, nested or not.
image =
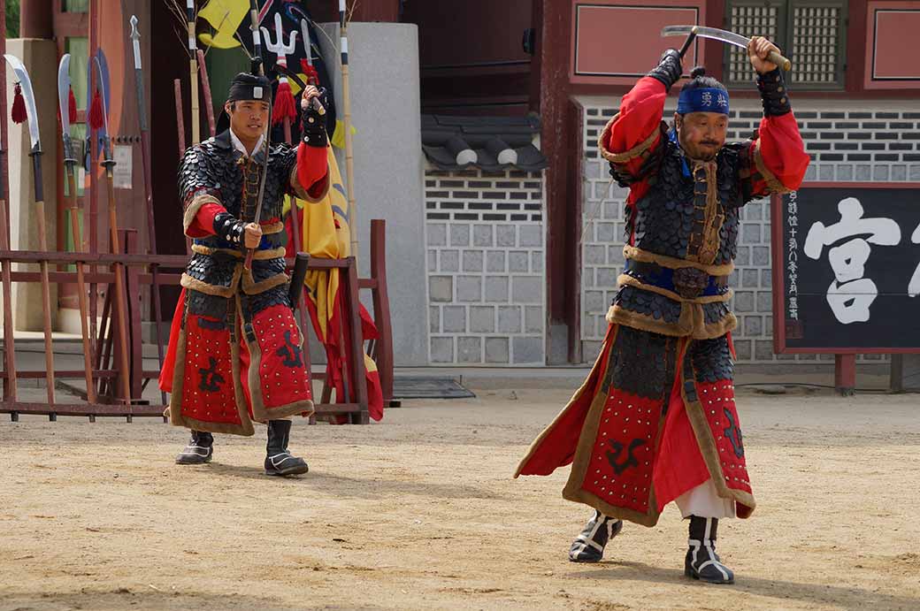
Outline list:
[[[637,176],[648,153],[661,142],[659,126],[667,97],[664,84],[657,78],[638,80],[601,133],[601,153],[607,161]]]

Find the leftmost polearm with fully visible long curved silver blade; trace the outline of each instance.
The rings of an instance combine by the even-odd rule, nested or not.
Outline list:
[[[45,195],[41,185],[41,140],[39,136],[39,115],[35,107],[35,94],[32,90],[32,81],[26,66],[15,55],[6,53],[6,62],[13,68],[19,86],[22,88],[22,97],[26,102],[26,111],[29,117],[29,139],[32,150],[32,179],[35,185],[35,211],[39,229],[39,249],[48,250],[48,238],[45,234]],[[45,380],[48,386],[48,404],[54,405],[54,352],[52,349],[52,297],[51,282],[48,278],[48,261],[43,260],[41,267],[41,310],[43,315],[42,326],[45,333]],[[53,418],[52,418],[53,419]]]

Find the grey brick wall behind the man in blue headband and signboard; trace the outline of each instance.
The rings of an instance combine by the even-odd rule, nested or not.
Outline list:
[[[615,101],[615,100],[614,100]],[[583,100],[584,202],[582,244],[581,340],[591,361],[603,340],[604,314],[623,269],[623,205],[626,190],[611,183],[608,165],[597,150],[597,137],[615,108]],[[915,100],[798,100],[793,108],[811,153],[806,180],[845,182],[920,180],[920,111]],[[759,101],[732,100],[730,139],[743,139],[762,116]],[[673,108],[665,110],[665,117]],[[770,209],[766,200],[742,211],[742,233],[736,269],[730,278],[732,307],[739,327],[732,333],[739,363],[833,361],[833,355],[773,353],[773,311],[770,270]],[[863,360],[884,358],[866,355]]]

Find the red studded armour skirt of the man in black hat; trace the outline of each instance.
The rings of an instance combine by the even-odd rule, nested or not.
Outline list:
[[[190,295],[208,305],[190,307]],[[253,308],[248,299],[183,289],[159,380],[171,393],[173,424],[251,435],[253,421],[313,413],[304,340],[291,308],[281,299]]]

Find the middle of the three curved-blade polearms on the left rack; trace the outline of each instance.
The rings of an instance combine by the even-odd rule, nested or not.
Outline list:
[[[70,227],[74,236],[74,250],[83,250],[80,232],[80,209],[76,205],[76,157],[70,138],[70,53],[64,53],[58,65],[58,102],[61,110],[61,133],[63,139],[63,173],[70,190]],[[86,401],[96,403],[96,388],[93,385],[93,357],[89,341],[89,305],[86,299],[86,279],[83,275],[83,261],[76,261],[76,290],[80,304],[80,332],[83,335],[83,368],[86,375]]]

